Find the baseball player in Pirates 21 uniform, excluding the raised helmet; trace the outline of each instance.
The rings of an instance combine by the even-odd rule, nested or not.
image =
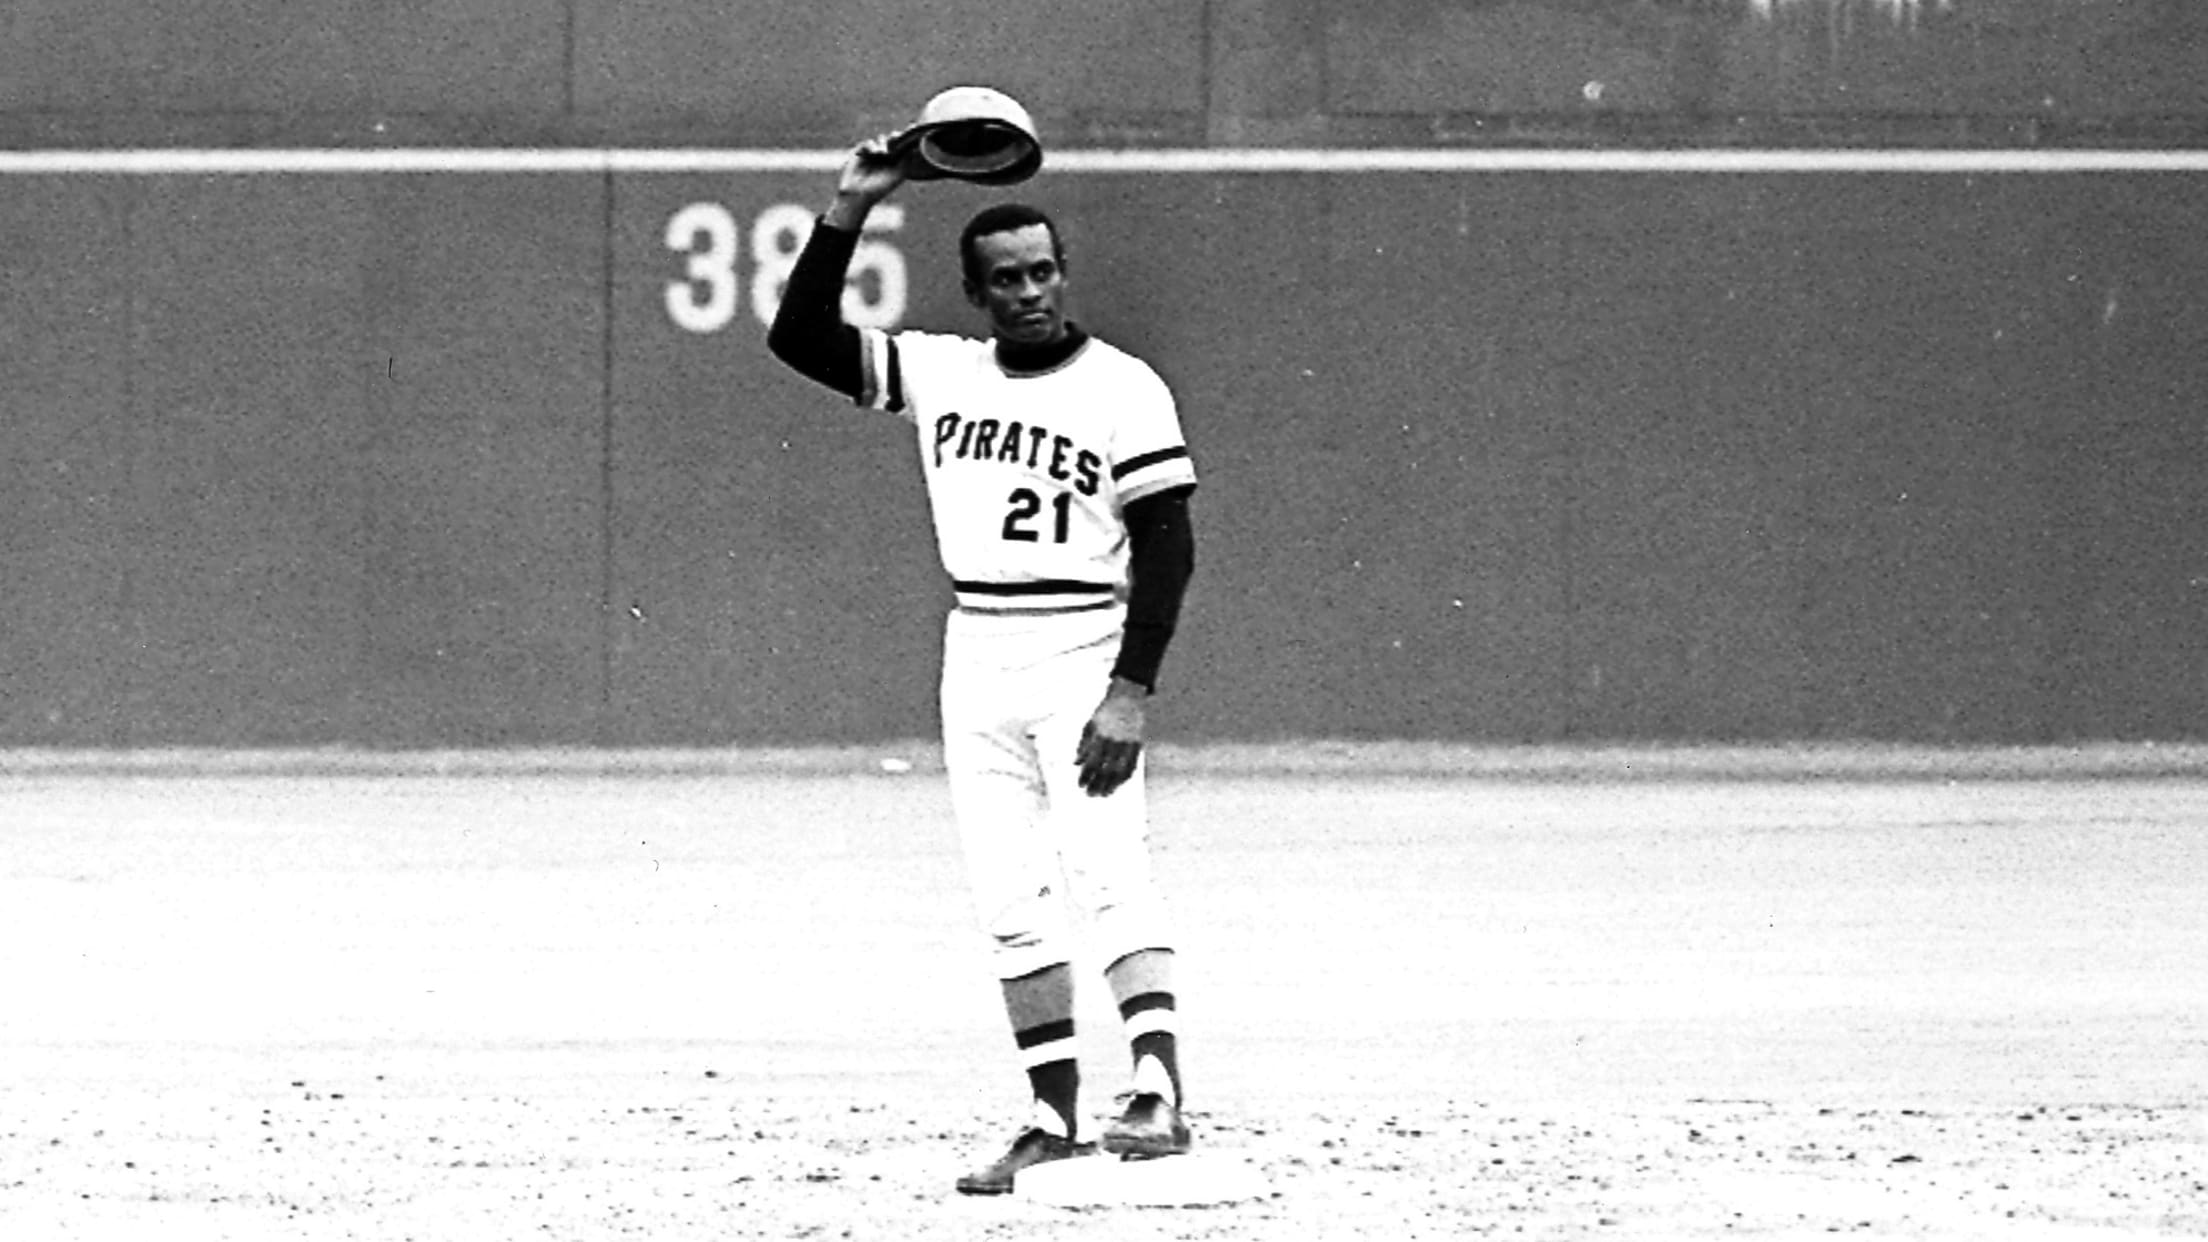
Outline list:
[[[958,239],[987,340],[843,323],[859,230],[903,181],[885,139],[852,152],[768,347],[916,433],[956,594],[943,636],[943,758],[1033,1090],[1011,1147],[958,1189],[1005,1193],[1020,1169],[1093,1151],[1078,1109],[1075,908],[1111,964],[1133,1056],[1133,1092],[1102,1145],[1124,1158],[1190,1145],[1142,745],[1144,698],[1195,566],[1197,475],[1164,380],[1066,318],[1064,245],[1033,208],[987,208]]]

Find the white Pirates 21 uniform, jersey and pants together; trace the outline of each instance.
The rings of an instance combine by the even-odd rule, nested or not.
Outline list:
[[[859,404],[916,429],[958,599],[943,758],[998,975],[1073,957],[1064,897],[1106,961],[1170,948],[1142,769],[1091,798],[1075,765],[1119,654],[1124,506],[1197,482],[1170,389],[1097,338],[1033,373],[1005,371],[989,340],[930,331],[863,329],[861,354]]]

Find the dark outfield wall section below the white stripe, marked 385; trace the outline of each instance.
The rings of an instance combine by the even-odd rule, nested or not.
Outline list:
[[[0,745],[927,734],[912,444],[760,345],[830,164],[18,161]],[[1206,477],[1161,729],[2204,731],[2204,161],[1627,166],[1031,188]],[[967,325],[978,201],[854,312]]]

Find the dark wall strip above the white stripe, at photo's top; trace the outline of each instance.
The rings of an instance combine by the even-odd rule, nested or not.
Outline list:
[[[1062,144],[2168,139],[2193,0],[11,0],[0,146],[835,146],[991,82]]]

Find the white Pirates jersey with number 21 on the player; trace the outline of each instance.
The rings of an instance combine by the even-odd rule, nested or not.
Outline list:
[[[861,329],[861,369],[857,402],[916,429],[963,610],[1124,603],[1126,506],[1197,482],[1172,391],[1093,336],[1058,367],[1005,371],[989,340]]]

